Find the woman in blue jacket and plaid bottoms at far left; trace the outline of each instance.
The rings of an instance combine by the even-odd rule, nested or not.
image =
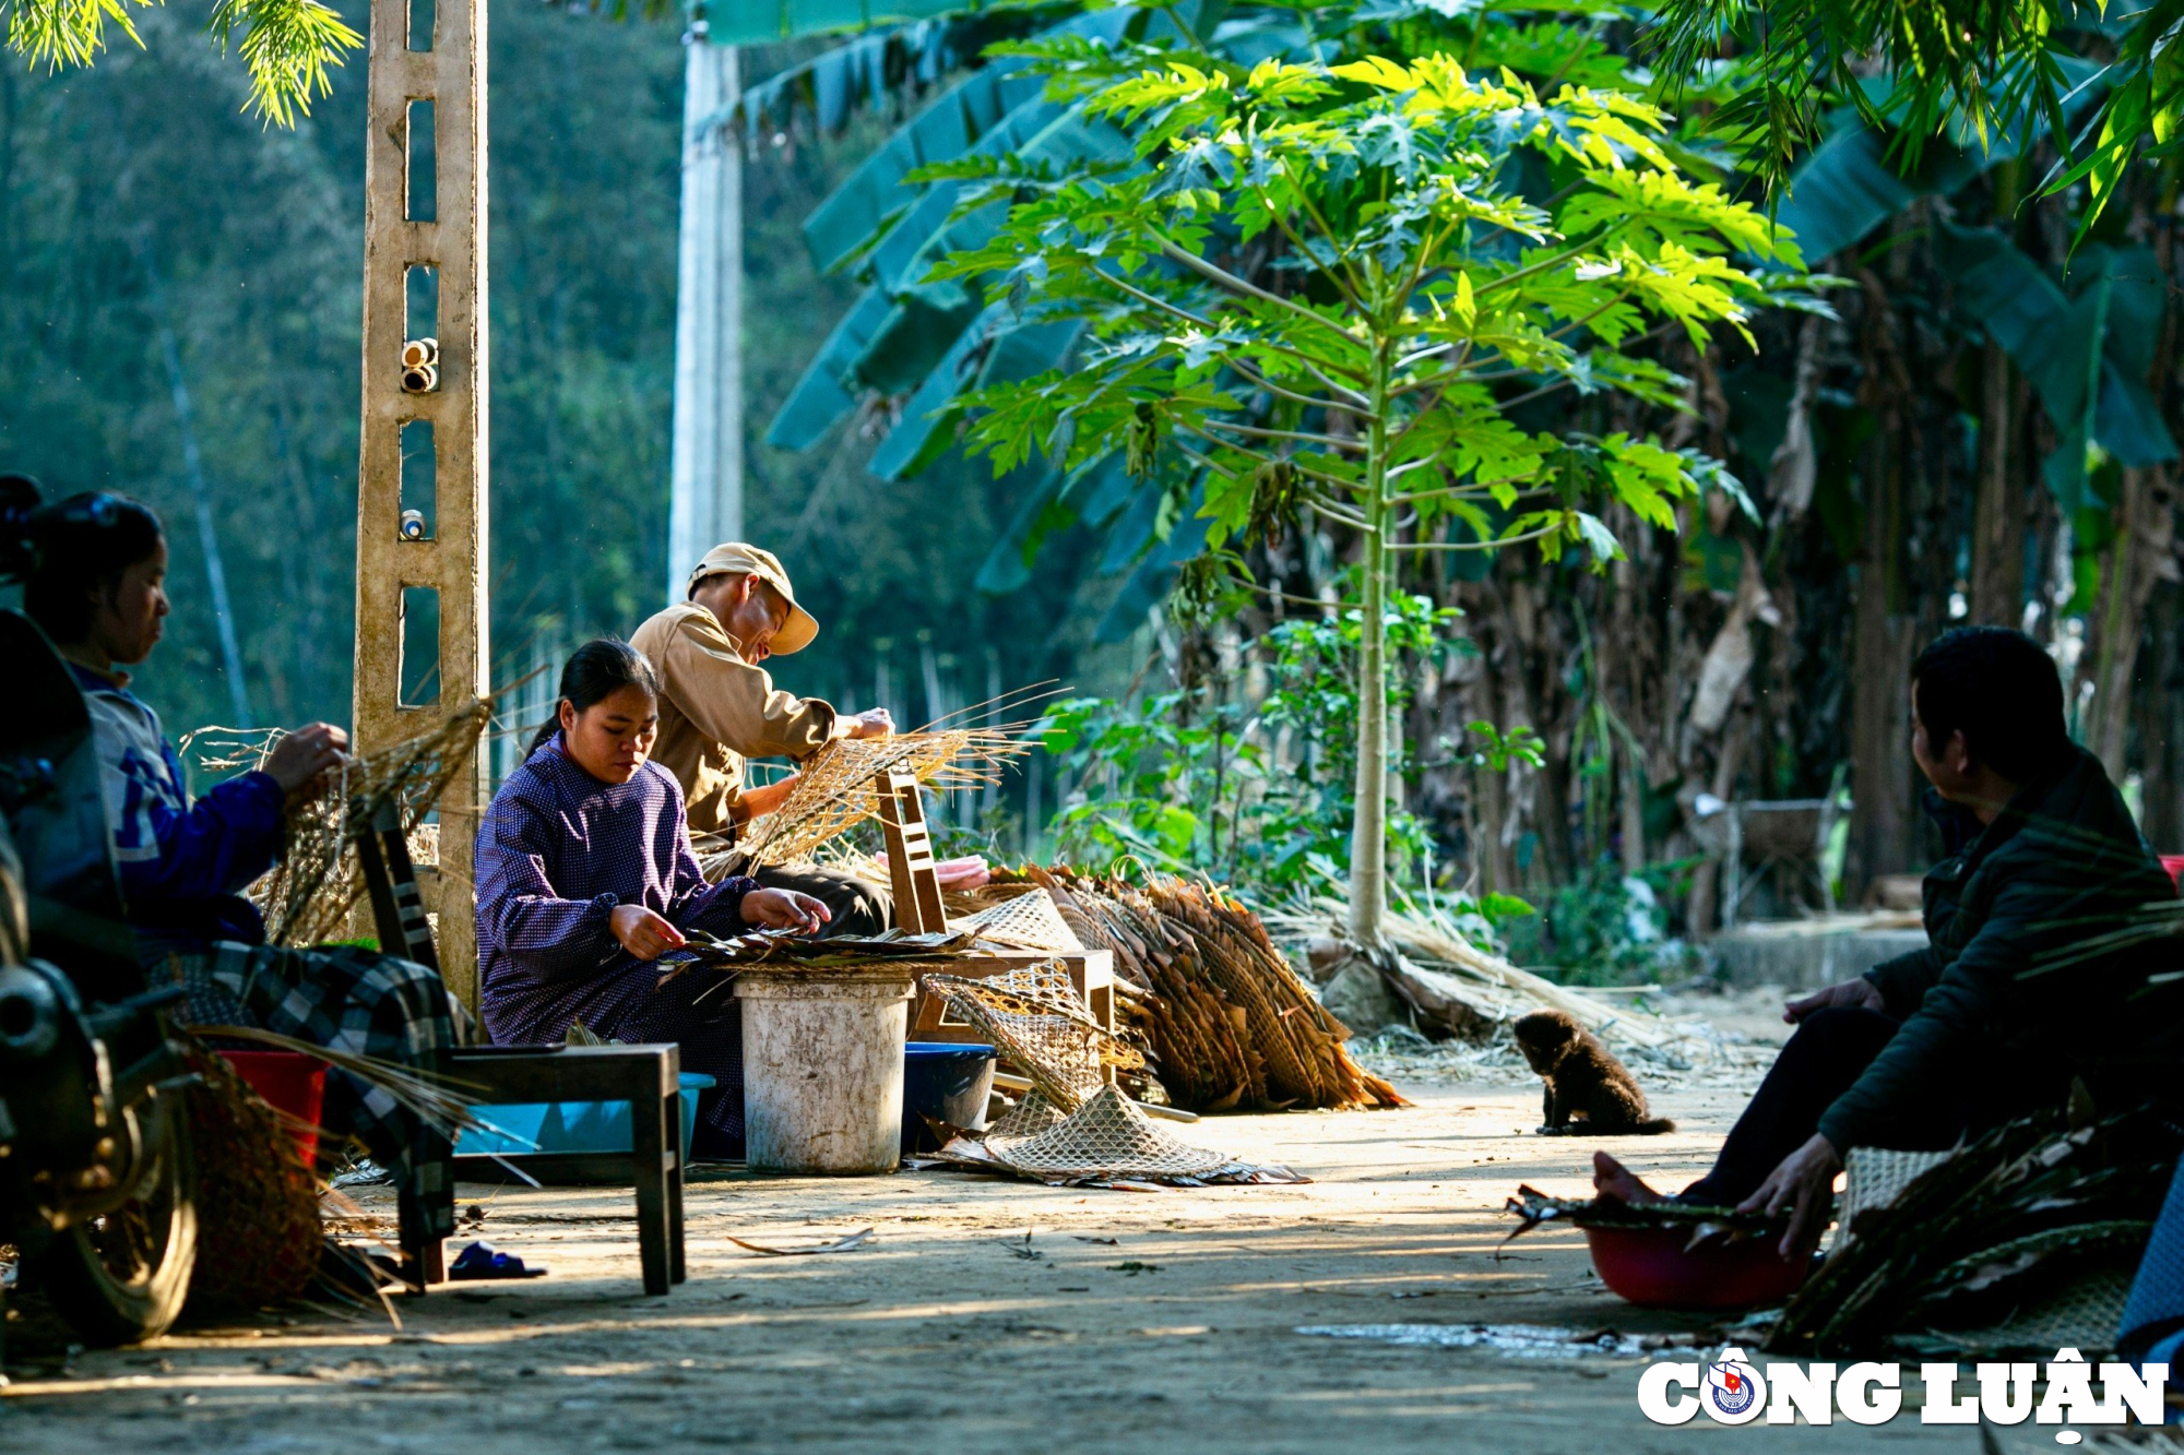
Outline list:
[[[297,728],[262,767],[192,802],[159,714],[129,693],[122,671],[164,634],[159,518],[127,496],[81,494],[31,511],[9,535],[31,544],[24,614],[59,647],[90,706],[129,924],[153,983],[186,990],[177,1018],[437,1070],[454,1029],[432,970],[347,946],[271,946],[258,907],[242,898],[282,854],[286,806],[319,793],[349,736],[332,723]],[[360,1136],[395,1171],[430,1237],[454,1232],[441,1134],[339,1070],[325,1084],[323,1121]]]

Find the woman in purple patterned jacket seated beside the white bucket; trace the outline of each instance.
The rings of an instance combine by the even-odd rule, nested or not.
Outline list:
[[[684,931],[817,931],[808,894],[749,878],[708,885],[690,852],[681,786],[651,762],[660,682],[618,640],[561,669],[555,719],[494,795],[478,830],[478,981],[496,1042],[559,1042],[570,1025],[627,1042],[681,1042],[699,1097],[692,1151],[743,1156],[743,1022],[719,972],[662,981]]]

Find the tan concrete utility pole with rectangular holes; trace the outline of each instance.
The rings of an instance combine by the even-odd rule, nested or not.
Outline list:
[[[365,151],[365,430],[356,483],[356,743],[417,736],[487,690],[485,0],[371,0]],[[411,317],[411,308],[417,317]],[[437,341],[426,347],[426,341]],[[411,354],[406,360],[404,354]],[[404,481],[404,426],[430,435]],[[415,511],[415,520],[408,518]],[[437,592],[437,662],[402,662],[406,599]],[[424,651],[419,647],[419,651]],[[430,682],[432,701],[402,701]],[[478,1005],[472,848],[480,756],[439,800],[448,987]]]

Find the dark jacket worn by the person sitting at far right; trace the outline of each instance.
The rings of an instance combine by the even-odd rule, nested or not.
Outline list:
[[[2044,955],[2132,922],[2175,887],[2138,835],[2101,760],[2073,747],[2025,784],[1987,826],[1928,795],[1957,848],[1926,874],[1928,948],[1872,968],[1902,1029],[1819,1119],[1850,1147],[1889,1147],[1918,1125],[1939,1075],[1996,1077],[1996,1121],[2086,1077],[2114,1108],[2184,1086],[2184,985],[2147,990],[2184,968],[2184,942],[2153,939],[2066,968]]]

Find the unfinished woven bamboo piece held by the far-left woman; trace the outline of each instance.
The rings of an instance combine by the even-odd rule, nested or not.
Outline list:
[[[415,835],[478,749],[491,717],[494,699],[480,697],[432,732],[349,758],[328,773],[317,797],[288,808],[282,861],[249,891],[273,944],[323,944],[347,933],[349,911],[365,898],[352,848],[356,830],[395,804],[402,830]],[[262,767],[280,738],[277,728],[201,728],[181,741],[181,749],[207,773],[242,773]]]

